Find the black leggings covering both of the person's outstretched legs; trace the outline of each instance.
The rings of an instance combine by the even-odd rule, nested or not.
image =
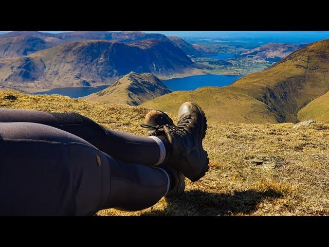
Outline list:
[[[145,166],[157,161],[152,152],[159,153],[154,140],[105,129],[79,114],[0,109],[0,215],[150,207],[169,185],[165,172]]]

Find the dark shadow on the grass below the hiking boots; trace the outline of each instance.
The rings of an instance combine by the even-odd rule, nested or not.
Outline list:
[[[142,216],[225,216],[231,214],[250,214],[265,198],[279,198],[282,193],[271,189],[264,192],[256,190],[234,191],[233,194],[210,193],[191,190],[174,199],[166,200],[165,210],[152,210]]]

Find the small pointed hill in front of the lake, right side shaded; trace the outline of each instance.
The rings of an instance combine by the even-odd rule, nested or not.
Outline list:
[[[171,92],[159,78],[151,73],[137,74],[131,72],[107,89],[84,98],[101,103],[138,105]]]

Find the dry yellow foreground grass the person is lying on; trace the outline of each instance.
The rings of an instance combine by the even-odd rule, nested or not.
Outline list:
[[[108,128],[138,135],[148,112],[14,91],[0,91],[0,107],[77,112]],[[171,202],[161,199],[137,212],[106,209],[98,215],[329,215],[329,125],[298,130],[292,126],[209,123],[204,147],[210,170],[198,182],[186,180],[184,195]]]

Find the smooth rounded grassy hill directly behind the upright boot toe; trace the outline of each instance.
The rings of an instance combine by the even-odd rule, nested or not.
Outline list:
[[[205,110],[210,122],[277,123],[278,116],[261,101],[231,90],[231,87],[201,87],[176,91],[144,102],[141,107],[161,109],[176,115],[180,105],[193,101]]]

